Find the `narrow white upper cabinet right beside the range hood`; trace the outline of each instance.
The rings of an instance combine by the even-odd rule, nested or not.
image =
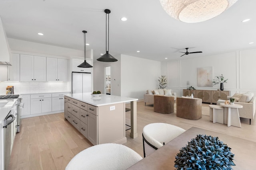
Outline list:
[[[20,54],[11,53],[10,63],[12,66],[8,66],[7,81],[20,81]]]

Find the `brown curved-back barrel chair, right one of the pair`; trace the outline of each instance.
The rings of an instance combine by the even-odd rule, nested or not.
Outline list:
[[[202,118],[202,99],[177,97],[176,116],[190,120]]]

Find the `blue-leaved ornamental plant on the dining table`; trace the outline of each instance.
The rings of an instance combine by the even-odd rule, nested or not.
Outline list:
[[[234,154],[218,137],[197,135],[176,155],[176,170],[232,170]]]

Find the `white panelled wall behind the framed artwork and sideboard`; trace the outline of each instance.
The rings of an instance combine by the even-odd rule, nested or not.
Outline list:
[[[174,89],[178,96],[183,95],[182,89],[187,88],[186,82],[196,89],[217,90],[220,84],[213,87],[197,86],[197,68],[212,66],[212,77],[223,74],[228,78],[224,83],[224,90],[230,90],[230,94],[235,92],[252,91],[256,94],[256,79],[254,73],[256,63],[256,49],[238,50],[217,55],[187,58],[162,62],[161,74],[168,75],[168,88]]]

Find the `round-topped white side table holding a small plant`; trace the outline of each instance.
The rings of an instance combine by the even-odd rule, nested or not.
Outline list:
[[[242,108],[243,106],[240,104],[229,105],[224,103],[221,103],[220,106],[228,107],[228,123],[227,123],[228,127],[230,126],[241,127],[238,108]]]

